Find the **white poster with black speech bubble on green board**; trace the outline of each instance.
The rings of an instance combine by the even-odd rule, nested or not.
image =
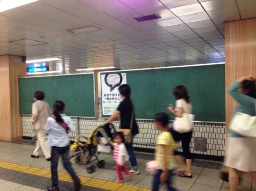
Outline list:
[[[126,84],[126,73],[101,75],[102,115],[111,116],[122,101],[118,87]]]

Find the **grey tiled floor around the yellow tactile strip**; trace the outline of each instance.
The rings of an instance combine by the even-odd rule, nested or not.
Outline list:
[[[40,153],[39,159],[31,158],[30,155],[35,149],[34,144],[28,143],[27,140],[17,142],[0,142],[0,161],[31,166],[35,168],[50,170],[50,162],[46,161],[43,154]],[[145,172],[145,163],[153,159],[150,153],[136,153],[139,163],[140,174],[134,176],[131,181],[125,182],[127,185],[137,187],[150,188],[152,184],[152,176]],[[106,161],[103,168],[96,168],[92,174],[88,174],[86,166],[76,164],[72,159],[72,166],[79,176],[89,178],[98,178],[101,180],[113,181],[117,179],[115,172],[115,162],[111,154],[100,154],[99,158]],[[182,178],[173,176],[173,185],[178,191],[228,191],[229,185],[219,179],[219,169],[221,163],[217,161],[208,161],[195,159],[193,162],[192,172],[193,178]],[[66,172],[61,163],[58,167],[59,172]],[[5,168],[0,168],[0,191],[39,191],[46,190],[46,186],[50,185],[50,178],[25,174]],[[109,190],[118,190],[110,184]],[[112,187],[112,188],[111,188]],[[61,191],[72,190],[72,183],[65,181],[60,182]],[[82,190],[94,191],[102,190],[99,188],[83,186]],[[119,189],[120,190],[120,189]],[[165,185],[160,189],[167,191]],[[243,178],[239,185],[239,191],[255,191],[256,184],[252,183],[249,178]],[[128,189],[127,189],[128,191]]]

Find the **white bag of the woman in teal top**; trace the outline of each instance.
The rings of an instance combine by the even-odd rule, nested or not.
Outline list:
[[[239,135],[256,138],[256,116],[237,112],[230,121],[229,128]]]

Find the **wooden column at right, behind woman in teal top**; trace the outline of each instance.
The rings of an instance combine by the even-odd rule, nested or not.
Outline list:
[[[256,76],[256,19],[225,23],[226,89],[242,76]],[[226,92],[227,127],[237,106]]]

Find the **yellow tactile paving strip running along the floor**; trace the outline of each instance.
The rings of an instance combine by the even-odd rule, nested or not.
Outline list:
[[[9,163],[5,161],[0,161],[0,168],[6,168],[9,170],[15,170],[15,171],[24,172],[27,174],[33,174],[37,176],[51,178],[51,171],[41,169],[41,168],[34,168],[30,166],[14,164],[14,163]],[[58,174],[59,174],[59,180],[63,180],[66,182],[73,182],[69,174],[64,172],[58,172]],[[97,178],[89,178],[86,176],[78,176],[78,177],[80,178],[82,185],[86,185],[89,187],[101,188],[101,189],[111,190],[111,191],[150,191],[150,189],[147,189],[147,188],[136,187],[136,186],[126,185],[126,184],[117,184],[111,181],[100,180]]]

